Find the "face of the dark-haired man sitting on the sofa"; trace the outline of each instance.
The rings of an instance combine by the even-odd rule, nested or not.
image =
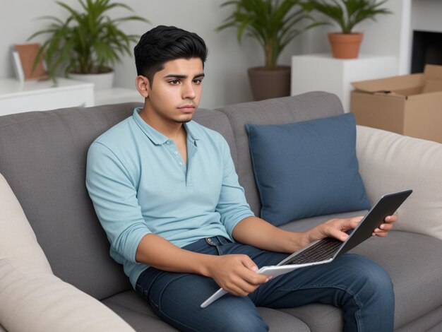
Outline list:
[[[184,123],[192,119],[203,91],[203,61],[199,58],[167,61],[148,84],[145,108],[155,121]],[[153,117],[153,118],[152,118]]]

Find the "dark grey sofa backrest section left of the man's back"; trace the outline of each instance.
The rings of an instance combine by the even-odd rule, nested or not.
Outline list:
[[[0,173],[28,217],[52,272],[102,299],[131,286],[85,188],[90,143],[135,104],[56,109],[0,117]]]

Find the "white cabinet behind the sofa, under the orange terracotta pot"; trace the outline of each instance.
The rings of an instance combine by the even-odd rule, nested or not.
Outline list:
[[[291,95],[326,91],[340,97],[350,111],[351,82],[398,75],[398,58],[360,54],[357,59],[334,59],[331,54],[292,57]]]

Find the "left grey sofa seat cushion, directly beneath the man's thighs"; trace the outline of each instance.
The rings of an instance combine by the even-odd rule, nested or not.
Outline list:
[[[121,292],[102,302],[117,312],[136,331],[177,331],[158,318],[150,306],[133,290]],[[310,331],[309,326],[302,319],[297,319],[292,314],[263,307],[259,307],[258,311],[270,327],[270,331]]]

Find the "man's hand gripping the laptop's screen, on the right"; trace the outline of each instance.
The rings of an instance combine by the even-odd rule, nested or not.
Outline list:
[[[335,239],[340,239],[342,242],[347,239],[348,230],[352,230],[356,227],[362,220],[363,217],[345,218],[345,219],[331,219],[318,225],[311,230],[304,233],[306,237],[306,244],[317,239],[323,239],[325,237],[334,237]],[[396,215],[388,215],[384,219],[378,228],[373,231],[373,236],[386,237],[388,232],[393,229],[393,223],[398,220]]]

